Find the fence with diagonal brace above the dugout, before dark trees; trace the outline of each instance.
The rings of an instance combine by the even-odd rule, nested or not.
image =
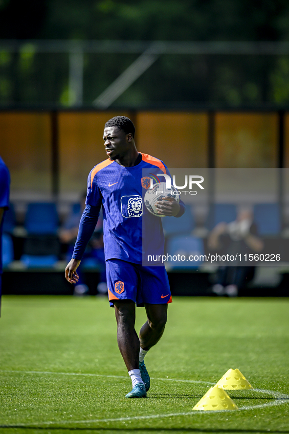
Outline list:
[[[289,43],[0,41],[4,107],[288,103]]]

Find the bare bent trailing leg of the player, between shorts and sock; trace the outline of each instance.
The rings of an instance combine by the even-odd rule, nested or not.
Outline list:
[[[147,321],[139,332],[140,346],[148,351],[160,340],[167,322],[167,304],[145,304]]]

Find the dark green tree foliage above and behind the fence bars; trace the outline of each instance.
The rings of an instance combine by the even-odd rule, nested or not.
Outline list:
[[[289,41],[288,0],[0,0],[0,39]],[[137,55],[86,54],[90,105]],[[289,56],[162,55],[122,106],[288,104]],[[65,54],[0,52],[2,103],[65,103]]]

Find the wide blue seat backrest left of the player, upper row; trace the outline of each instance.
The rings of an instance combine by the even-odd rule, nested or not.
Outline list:
[[[33,234],[56,234],[59,219],[54,203],[29,204],[25,216],[24,228]]]

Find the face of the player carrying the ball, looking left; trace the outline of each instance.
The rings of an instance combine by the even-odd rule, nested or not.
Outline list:
[[[131,134],[126,134],[118,127],[107,127],[103,132],[105,150],[111,160],[125,157],[130,149]]]

